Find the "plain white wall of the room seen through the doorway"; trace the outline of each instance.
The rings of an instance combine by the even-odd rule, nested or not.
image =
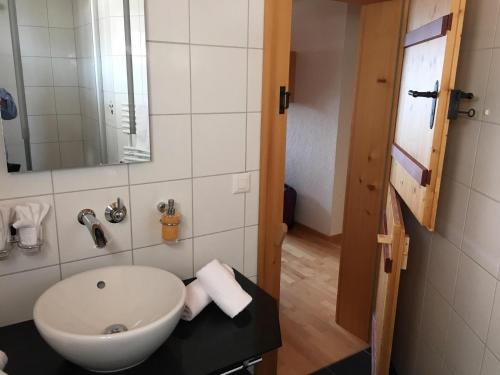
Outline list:
[[[344,190],[335,183],[336,150],[348,144],[350,119],[341,115],[342,96],[349,97],[355,51],[346,27],[356,17],[344,3],[331,0],[293,2],[292,50],[297,52],[295,101],[288,112],[286,182],[298,193],[296,219],[327,235],[342,228]],[[345,64],[350,60],[350,64]],[[342,116],[340,118],[339,116]],[[339,138],[340,135],[340,138]],[[343,173],[343,162],[339,162]],[[334,191],[337,190],[337,191]]]

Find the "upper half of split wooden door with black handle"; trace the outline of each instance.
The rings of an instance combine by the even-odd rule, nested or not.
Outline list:
[[[466,0],[410,0],[390,180],[434,230]]]

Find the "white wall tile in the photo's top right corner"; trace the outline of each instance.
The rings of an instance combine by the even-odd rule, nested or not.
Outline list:
[[[498,0],[474,1],[467,4],[462,34],[464,48],[493,47],[498,5]]]

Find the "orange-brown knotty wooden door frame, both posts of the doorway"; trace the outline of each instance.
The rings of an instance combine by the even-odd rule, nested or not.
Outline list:
[[[288,87],[289,57],[291,39],[291,17],[292,0],[264,0],[264,63],[262,84],[262,122],[261,122],[261,160],[260,160],[260,197],[259,197],[259,240],[258,240],[258,285],[279,300],[280,276],[281,276],[281,243],[283,238],[283,185],[285,181],[285,151],[286,151],[286,113],[279,114],[279,87]],[[341,0],[342,1],[342,0]],[[363,244],[362,255],[368,258],[368,262],[359,262],[355,252],[344,251],[342,261],[349,265],[350,269],[359,271],[362,282],[358,278],[348,277],[347,272],[341,270],[339,277],[339,299],[337,311],[337,322],[355,333],[357,336],[369,340],[369,322],[371,319],[373,285],[375,279],[375,264],[377,250],[377,236],[380,224],[380,215],[385,204],[387,192],[387,166],[389,165],[389,144],[392,139],[393,126],[391,122],[393,96],[396,86],[396,72],[398,70],[398,52],[400,46],[400,21],[397,22],[398,32],[394,32],[394,9],[401,10],[400,19],[403,19],[403,4],[407,0],[345,0],[354,4],[367,4],[362,7],[362,20],[373,14],[378,17],[379,27],[377,30],[365,30],[367,34],[379,33],[380,38],[392,35],[390,43],[381,43],[379,54],[373,51],[370,56],[363,57],[362,51],[358,51],[358,76],[356,84],[356,99],[354,111],[358,113],[358,119],[353,116],[353,130],[358,127],[365,131],[376,130],[374,136],[380,142],[375,148],[364,150],[366,156],[360,154],[359,142],[356,143],[354,133],[351,135],[351,148],[348,166],[348,181],[346,190],[352,190],[357,184],[363,185],[363,191],[357,190],[356,198],[353,193],[346,194],[346,202],[358,199],[362,202],[353,211],[354,216],[345,213],[344,226],[351,225],[354,220],[371,224],[370,232],[358,227],[357,231],[349,234],[349,237],[373,237],[373,240]],[[385,17],[385,18],[384,18]],[[392,21],[392,24],[391,24]],[[385,28],[383,25],[390,25]],[[360,36],[362,46],[363,35]],[[373,38],[372,38],[373,39]],[[383,44],[383,45],[382,45]],[[372,46],[373,47],[373,46]],[[388,61],[388,56],[389,60]],[[369,60],[368,60],[369,58]],[[375,61],[374,61],[375,59]],[[377,60],[379,64],[377,65]],[[379,69],[368,69],[370,76],[360,76],[363,68],[368,65],[377,65]],[[370,97],[379,98],[370,101]],[[380,99],[382,98],[382,99]],[[375,104],[375,106],[373,105]],[[363,120],[368,123],[365,126]],[[372,120],[375,119],[375,120]],[[366,145],[361,143],[361,145]],[[363,159],[363,160],[362,160]],[[353,165],[357,163],[358,167]],[[361,175],[366,168],[376,166],[373,173],[366,175],[363,181]],[[363,178],[365,176],[363,175]],[[346,204],[346,208],[348,205]],[[372,233],[373,232],[373,233]],[[353,246],[343,236],[343,248]],[[354,243],[355,245],[355,243]],[[365,264],[368,263],[368,264]],[[355,272],[357,273],[357,272]],[[345,290],[340,292],[340,287]],[[362,295],[360,299],[358,296]],[[340,307],[340,308],[339,308]],[[352,319],[351,316],[355,316]],[[259,366],[259,374],[274,374],[277,368],[277,352],[264,356],[263,363]]]

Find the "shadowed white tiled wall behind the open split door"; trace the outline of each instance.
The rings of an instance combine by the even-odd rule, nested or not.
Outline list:
[[[406,213],[400,375],[500,374],[500,1],[467,7],[456,86],[476,95],[478,115],[450,125],[437,231]]]

